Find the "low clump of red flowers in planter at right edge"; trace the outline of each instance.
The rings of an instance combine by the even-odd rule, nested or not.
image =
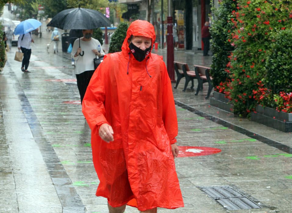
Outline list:
[[[277,110],[292,113],[292,93],[280,92],[279,95],[274,95],[274,100]]]

